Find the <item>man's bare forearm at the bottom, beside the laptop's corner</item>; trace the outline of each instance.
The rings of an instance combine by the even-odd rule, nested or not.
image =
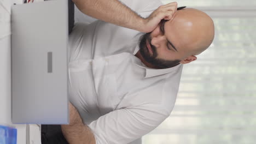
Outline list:
[[[72,104],[69,104],[69,124],[61,125],[62,133],[69,144],[96,144],[94,134],[83,123],[79,113]]]

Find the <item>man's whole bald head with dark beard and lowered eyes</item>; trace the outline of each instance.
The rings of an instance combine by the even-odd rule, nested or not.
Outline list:
[[[170,68],[195,61],[195,55],[206,50],[213,38],[210,16],[197,9],[177,10],[171,20],[162,20],[154,31],[143,35],[139,55],[148,67]]]

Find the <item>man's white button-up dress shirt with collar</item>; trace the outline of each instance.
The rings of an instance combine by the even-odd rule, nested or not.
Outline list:
[[[162,3],[122,1],[146,17]],[[97,144],[129,143],[149,133],[171,113],[182,64],[147,68],[135,53],[144,33],[103,21],[76,23],[69,37],[71,103]]]

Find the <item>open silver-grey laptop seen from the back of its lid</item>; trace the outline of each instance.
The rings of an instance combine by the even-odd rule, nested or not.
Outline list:
[[[68,2],[11,8],[11,119],[67,124]]]

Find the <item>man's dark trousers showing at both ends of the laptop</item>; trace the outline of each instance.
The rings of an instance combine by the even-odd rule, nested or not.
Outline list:
[[[68,33],[74,27],[74,3],[68,0]],[[62,134],[61,125],[41,125],[42,144],[68,144]]]

